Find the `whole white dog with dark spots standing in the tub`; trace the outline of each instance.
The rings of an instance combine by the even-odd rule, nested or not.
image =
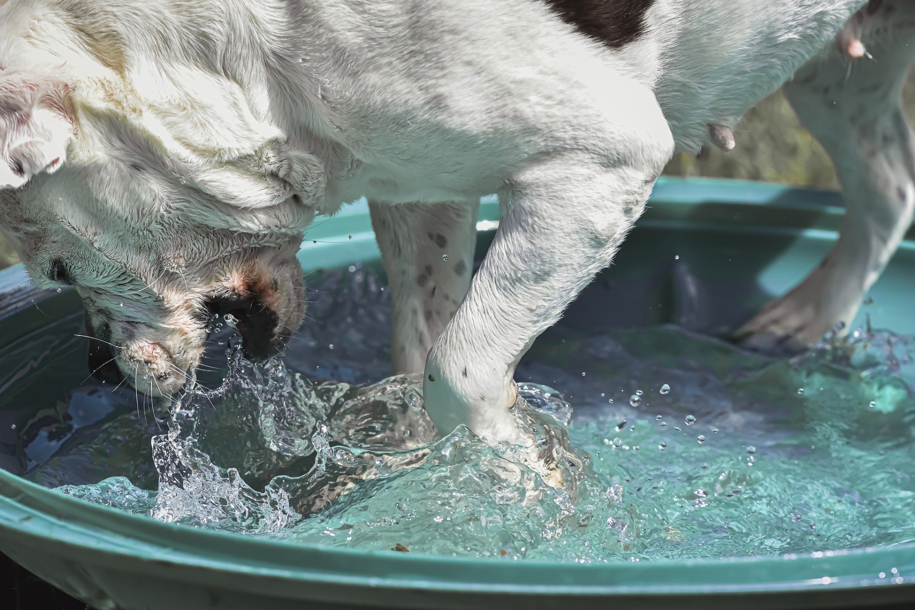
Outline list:
[[[423,371],[442,432],[512,439],[515,365],[611,261],[674,149],[732,147],[796,73],[845,228],[743,332],[810,344],[851,320],[915,204],[899,109],[915,3],[865,4],[0,0],[0,227],[37,284],[81,294],[92,369],[168,394],[212,312],[239,318],[252,356],[281,348],[304,315],[302,230],[366,196],[395,371]]]

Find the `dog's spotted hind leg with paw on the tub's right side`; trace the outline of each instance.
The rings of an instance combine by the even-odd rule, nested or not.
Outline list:
[[[737,331],[751,348],[809,347],[847,330],[871,285],[899,246],[915,207],[915,148],[900,91],[915,56],[915,3],[862,9],[867,55],[828,48],[785,86],[791,105],[833,157],[845,196],[834,248],[791,292]]]

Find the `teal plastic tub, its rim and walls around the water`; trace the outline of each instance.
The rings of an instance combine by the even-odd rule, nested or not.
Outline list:
[[[665,179],[614,267],[598,279],[619,298],[608,311],[587,292],[565,324],[675,322],[722,333],[795,284],[836,239],[835,194],[729,181]],[[484,200],[479,254],[498,223]],[[350,238],[351,236],[351,238]],[[674,254],[690,261],[689,273]],[[307,232],[306,271],[377,263],[368,209],[356,204]],[[915,333],[915,236],[907,235],[871,291],[881,324]],[[704,290],[694,289],[703,284]],[[714,294],[710,299],[703,294]],[[79,316],[73,294],[31,288],[21,267],[0,273],[7,347]],[[0,466],[15,471],[15,421],[55,388],[55,362],[82,352],[36,348],[27,377],[0,370]],[[23,369],[20,369],[20,371]],[[85,372],[85,371],[83,371]],[[57,380],[58,385],[67,380]],[[31,392],[31,393],[29,393]],[[911,507],[900,507],[911,510]],[[813,608],[915,601],[915,545],[748,559],[501,562],[357,552],[169,525],[92,505],[0,470],[0,551],[97,608]],[[897,568],[899,578],[877,573]],[[895,574],[895,572],[894,572]]]

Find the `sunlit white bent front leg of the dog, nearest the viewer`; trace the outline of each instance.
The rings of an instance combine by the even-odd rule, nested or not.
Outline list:
[[[425,409],[439,432],[465,424],[490,442],[525,442],[510,412],[518,361],[608,265],[673,151],[652,103],[631,124],[615,117],[619,133],[597,140],[608,148],[583,142],[507,180],[496,238],[426,361]]]

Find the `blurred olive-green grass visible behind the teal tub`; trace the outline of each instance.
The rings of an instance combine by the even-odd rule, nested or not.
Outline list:
[[[915,71],[903,93],[915,120]],[[723,153],[711,148],[704,158],[676,155],[665,174],[677,177],[731,177],[780,182],[797,187],[838,188],[833,164],[813,136],[794,116],[778,92],[744,117],[735,132],[737,148]],[[16,252],[0,236],[0,269],[18,262]]]

